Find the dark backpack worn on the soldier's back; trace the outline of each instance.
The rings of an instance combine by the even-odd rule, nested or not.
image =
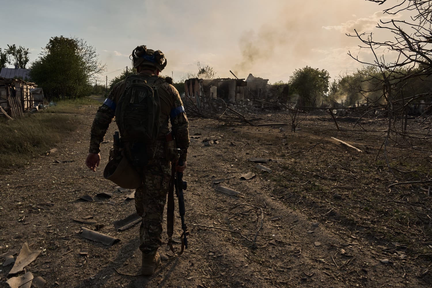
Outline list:
[[[162,81],[159,79],[163,78],[151,77],[146,80],[143,76],[130,75],[125,79],[126,87],[115,110],[122,139],[143,143],[156,140],[161,111],[157,89]]]

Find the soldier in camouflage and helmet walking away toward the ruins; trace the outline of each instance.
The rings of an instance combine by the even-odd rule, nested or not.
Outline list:
[[[114,85],[104,104],[98,108],[91,128],[90,148],[86,158],[86,165],[93,171],[96,171],[96,167],[99,166],[101,159],[99,154],[100,143],[103,141],[108,126],[115,115],[120,134],[129,135],[128,137],[121,135],[121,142],[124,143],[124,156],[143,179],[141,186],[135,191],[135,208],[138,215],[143,218],[140,226],[141,272],[143,275],[151,275],[160,263],[157,250],[162,245],[162,214],[171,180],[171,163],[164,147],[165,135],[169,133],[168,120],[171,122],[172,133],[175,135],[175,144],[180,149],[180,158],[176,163],[176,170],[179,172],[183,172],[186,168],[187,149],[190,141],[188,121],[180,95],[177,89],[171,85],[171,78],[167,77],[165,79],[159,76],[159,72],[166,66],[164,54],[159,50],[153,51],[142,45],[132,51],[130,58],[133,67],[137,68],[138,73],[138,76],[133,76],[134,79],[139,77],[141,82],[153,87],[155,95],[159,95],[160,111],[158,113],[160,113],[160,116],[157,126],[160,128],[159,132],[156,132],[157,137],[154,141],[143,142],[139,139],[139,135],[133,137],[133,133],[128,133],[129,128],[127,127],[131,127],[131,123],[126,128],[123,125],[127,121],[134,121],[130,113],[122,114],[118,106],[121,105],[119,100],[121,100],[122,94],[127,89],[128,78],[132,77],[129,76]],[[144,127],[145,125],[149,127],[149,125],[153,124],[145,123],[151,121],[149,118],[147,117],[146,120],[137,119],[136,123],[132,123],[132,125],[135,125],[135,128],[145,130],[147,129]],[[123,131],[121,122],[124,122],[122,124]],[[157,122],[157,120],[154,122]],[[179,165],[179,163],[182,165]]]

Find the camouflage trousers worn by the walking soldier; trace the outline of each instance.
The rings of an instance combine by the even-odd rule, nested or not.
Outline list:
[[[163,145],[148,147],[147,150],[152,158],[145,167],[137,168],[143,177],[143,185],[135,190],[135,208],[143,218],[140,250],[148,255],[156,253],[162,245],[162,221],[171,181],[171,163],[165,160]]]

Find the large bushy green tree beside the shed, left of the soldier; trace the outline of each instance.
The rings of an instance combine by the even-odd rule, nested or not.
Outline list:
[[[87,96],[105,65],[95,48],[78,38],[52,37],[32,63],[30,77],[44,89],[48,99],[73,99]]]

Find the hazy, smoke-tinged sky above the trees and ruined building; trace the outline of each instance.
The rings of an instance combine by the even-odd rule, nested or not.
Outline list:
[[[385,19],[382,6],[366,0],[5,0],[0,48],[29,48],[31,62],[51,37],[82,38],[106,64],[104,82],[131,66],[138,45],[161,50],[168,63],[162,74],[175,82],[197,73],[197,62],[218,78],[233,78],[232,70],[238,78],[252,73],[288,82],[296,69],[310,66],[327,70],[332,81],[362,68],[348,51],[370,57],[346,33],[376,32]]]

